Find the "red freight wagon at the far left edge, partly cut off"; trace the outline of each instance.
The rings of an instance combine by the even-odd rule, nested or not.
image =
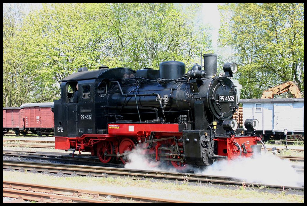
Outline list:
[[[3,135],[10,129],[19,135],[19,130],[22,129],[19,110],[22,107],[3,107]],[[21,128],[20,128],[21,127]]]

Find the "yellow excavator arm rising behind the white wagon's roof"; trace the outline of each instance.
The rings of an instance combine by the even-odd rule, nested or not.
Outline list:
[[[302,98],[301,91],[295,81],[287,81],[275,87],[264,90],[261,99],[273,99],[274,95],[290,91],[294,98]]]

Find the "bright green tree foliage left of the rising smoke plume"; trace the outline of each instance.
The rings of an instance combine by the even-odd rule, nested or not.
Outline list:
[[[206,28],[194,26],[199,7],[182,12],[172,3],[43,4],[17,28],[10,28],[4,11],[3,105],[52,101],[59,95],[57,81],[83,66],[157,69],[169,60],[192,66],[200,51],[211,51]],[[7,38],[11,30],[14,37]]]

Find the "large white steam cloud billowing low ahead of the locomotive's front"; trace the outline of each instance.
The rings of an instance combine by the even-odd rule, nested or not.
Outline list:
[[[218,161],[196,173],[233,177],[247,183],[292,187],[304,185],[304,174],[298,174],[291,167],[289,160],[267,155],[261,155],[255,159],[238,158],[232,161]]]

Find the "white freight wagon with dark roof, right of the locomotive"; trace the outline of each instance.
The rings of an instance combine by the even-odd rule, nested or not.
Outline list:
[[[304,136],[304,98],[241,99],[239,103],[243,106],[243,120],[258,119],[256,133],[262,133],[265,139],[280,138],[285,129],[288,135]],[[243,128],[246,129],[244,123]]]

